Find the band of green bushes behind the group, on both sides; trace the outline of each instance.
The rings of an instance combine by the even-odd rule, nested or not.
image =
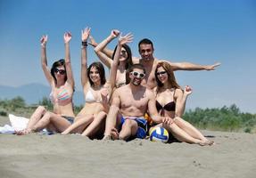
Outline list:
[[[49,110],[53,109],[53,104],[46,97],[37,104],[29,106],[20,96],[12,100],[0,100],[0,116],[6,117],[8,113],[13,113],[22,117],[30,117],[39,105]],[[82,105],[74,106],[75,114],[77,115],[82,108]],[[230,107],[224,106],[221,109],[190,109],[183,118],[201,129],[256,133],[256,114],[243,113],[235,104]]]

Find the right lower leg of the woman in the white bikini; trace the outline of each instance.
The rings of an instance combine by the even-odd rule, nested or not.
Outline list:
[[[83,132],[82,136],[91,136],[92,134],[95,134],[99,128],[101,127],[101,124],[103,123],[103,119],[107,116],[107,114],[103,111],[99,112],[96,116],[94,121],[87,126],[86,130]]]

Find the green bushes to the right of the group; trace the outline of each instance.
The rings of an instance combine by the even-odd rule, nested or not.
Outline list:
[[[202,129],[256,133],[256,115],[241,112],[235,104],[221,109],[196,108],[187,111],[183,117]]]

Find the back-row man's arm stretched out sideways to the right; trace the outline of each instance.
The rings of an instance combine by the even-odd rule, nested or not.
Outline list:
[[[169,62],[169,61],[168,61]],[[214,70],[220,63],[217,62],[213,65],[199,65],[190,62],[169,62],[172,69],[175,70]]]

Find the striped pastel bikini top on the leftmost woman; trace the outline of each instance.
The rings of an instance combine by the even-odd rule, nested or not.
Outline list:
[[[53,104],[58,103],[59,105],[66,105],[72,101],[73,93],[68,90],[66,84],[62,85],[60,88],[52,89],[49,98]],[[54,92],[54,90],[57,90],[57,92]]]

